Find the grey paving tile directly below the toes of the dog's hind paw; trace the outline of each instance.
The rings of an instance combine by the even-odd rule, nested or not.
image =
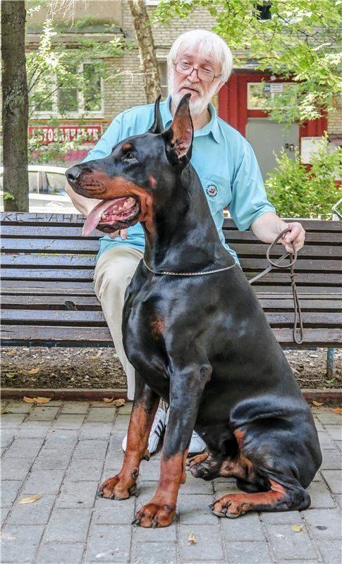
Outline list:
[[[262,541],[264,531],[257,513],[248,513],[238,519],[220,519],[224,538],[227,543],[236,541]]]

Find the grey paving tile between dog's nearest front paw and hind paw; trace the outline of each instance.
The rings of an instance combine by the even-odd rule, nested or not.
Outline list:
[[[212,496],[183,494],[178,497],[178,514],[181,525],[192,523],[216,525],[217,517],[209,509]]]

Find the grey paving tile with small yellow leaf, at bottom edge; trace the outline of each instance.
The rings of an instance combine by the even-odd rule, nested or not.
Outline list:
[[[189,544],[190,534],[195,535],[196,544]],[[219,525],[181,525],[181,561],[212,562],[224,558]],[[253,564],[254,564],[253,560]],[[241,564],[241,561],[239,562]],[[263,563],[265,564],[265,563]]]

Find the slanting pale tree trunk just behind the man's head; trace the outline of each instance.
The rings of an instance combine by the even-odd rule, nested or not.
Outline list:
[[[149,23],[145,0],[128,0],[128,5],[139,47],[140,66],[144,73],[147,103],[152,104],[161,93],[161,88],[151,24]]]

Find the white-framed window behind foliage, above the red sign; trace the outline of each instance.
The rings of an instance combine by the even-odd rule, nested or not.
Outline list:
[[[39,116],[71,116],[80,114],[102,115],[103,84],[96,63],[83,63],[71,69],[73,73],[83,73],[83,90],[59,84],[56,77],[41,80],[32,93],[34,113]]]

